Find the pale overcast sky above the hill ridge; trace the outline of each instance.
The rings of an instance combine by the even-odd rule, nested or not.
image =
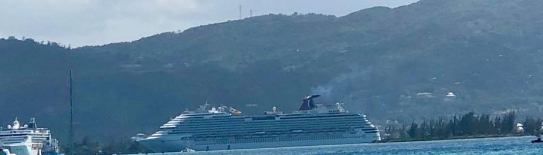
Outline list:
[[[417,0],[0,0],[0,38],[30,37],[72,47],[133,41],[165,31],[264,14],[344,16],[375,6]]]

